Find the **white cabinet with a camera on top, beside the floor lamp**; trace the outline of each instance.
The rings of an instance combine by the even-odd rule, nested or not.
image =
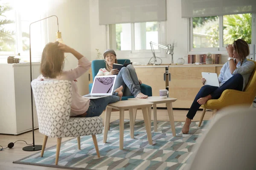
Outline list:
[[[32,65],[32,79],[39,76],[40,64]],[[0,133],[20,134],[32,130],[29,64],[0,64]],[[33,103],[34,126],[38,119]]]

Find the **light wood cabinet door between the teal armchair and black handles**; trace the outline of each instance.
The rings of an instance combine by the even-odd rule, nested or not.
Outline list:
[[[152,95],[159,96],[160,89],[166,89],[166,67],[137,67],[134,66],[138,79],[143,84],[149,85],[152,88]],[[157,107],[166,107],[165,104],[158,104]]]

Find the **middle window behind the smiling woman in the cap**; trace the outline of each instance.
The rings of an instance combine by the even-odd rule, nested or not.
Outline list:
[[[109,40],[109,48],[122,54],[123,57],[152,57],[149,42],[166,45],[165,22],[111,24],[109,25]],[[158,56],[164,51],[158,46],[154,46],[154,50]],[[140,54],[143,55],[138,56]]]

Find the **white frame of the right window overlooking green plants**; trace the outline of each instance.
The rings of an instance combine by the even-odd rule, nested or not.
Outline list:
[[[252,14],[252,25],[251,25],[251,32],[252,32],[252,43],[256,43],[256,13],[251,13]],[[189,36],[188,36],[188,41],[189,41],[189,54],[194,54],[198,52],[210,52],[210,53],[215,53],[218,52],[220,54],[226,54],[226,48],[223,47],[223,15],[219,15],[219,47],[216,48],[193,48],[193,18],[188,18],[188,26],[189,26]]]

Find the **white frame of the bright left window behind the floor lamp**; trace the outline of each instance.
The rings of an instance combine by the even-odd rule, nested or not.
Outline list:
[[[4,59],[7,58],[9,56],[18,56],[18,54],[20,54],[19,58],[20,59],[27,59],[29,57],[29,51],[23,51],[23,45],[22,45],[22,30],[21,30],[21,14],[19,11],[14,10],[15,12],[15,46],[16,46],[16,50],[15,51],[0,51],[0,58]],[[47,17],[46,14],[40,15],[40,19]],[[40,20],[38,19],[38,20]],[[33,22],[33,21],[32,21]],[[31,23],[32,23],[31,22]],[[41,40],[44,40],[44,44],[46,42],[48,42],[49,37],[48,37],[48,21],[47,20],[43,20],[41,21],[40,28],[41,28]],[[32,52],[32,56],[34,58],[37,59],[41,59],[41,55],[42,55],[43,51],[34,51]]]

